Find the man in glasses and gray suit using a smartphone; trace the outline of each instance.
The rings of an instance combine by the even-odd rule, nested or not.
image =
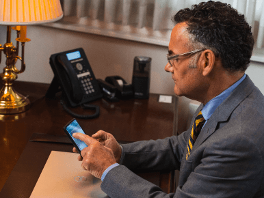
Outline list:
[[[264,197],[264,97],[245,74],[251,27],[213,1],[180,10],[174,20],[165,70],[177,96],[201,102],[194,124],[179,136],[122,147],[102,130],[76,133],[89,145],[78,158],[83,169],[101,178],[112,198]],[[179,169],[179,186],[166,195],[130,169]]]

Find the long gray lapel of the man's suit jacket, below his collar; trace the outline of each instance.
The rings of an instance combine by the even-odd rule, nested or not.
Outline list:
[[[213,115],[211,115],[211,117],[207,120],[207,123],[204,125],[204,128],[202,128],[200,135],[194,143],[192,151],[196,150],[197,147],[199,147],[210,135],[213,134],[213,132],[215,132],[218,122],[226,122],[228,120],[228,117],[230,117],[234,109],[253,91],[254,87],[254,83],[252,83],[250,78],[246,76],[246,79],[244,79],[226,98],[226,100],[224,100],[217,107],[217,109],[215,109]]]

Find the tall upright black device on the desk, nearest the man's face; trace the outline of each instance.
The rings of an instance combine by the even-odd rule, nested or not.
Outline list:
[[[150,57],[135,57],[132,77],[134,98],[149,98],[150,87]]]

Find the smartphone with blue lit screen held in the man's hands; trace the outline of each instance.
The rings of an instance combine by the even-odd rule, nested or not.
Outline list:
[[[81,132],[85,134],[77,120],[73,118],[72,120],[70,120],[70,122],[68,122],[68,124],[64,126],[63,129],[72,141],[73,145],[75,145],[75,147],[77,148],[79,154],[81,155],[81,150],[83,150],[85,147],[88,147],[88,145],[86,145],[83,141],[72,137],[72,134],[74,134],[75,132]]]

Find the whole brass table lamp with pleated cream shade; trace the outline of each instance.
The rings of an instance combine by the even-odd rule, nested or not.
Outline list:
[[[7,26],[6,43],[0,44],[0,63],[2,52],[6,56],[5,68],[0,74],[3,87],[0,91],[0,114],[14,114],[27,111],[30,107],[29,99],[18,94],[12,87],[17,74],[25,71],[25,42],[27,25],[39,25],[54,22],[62,18],[60,0],[0,0],[0,25]],[[12,27],[14,26],[14,27]],[[12,28],[11,28],[12,27]],[[16,30],[16,46],[11,42],[11,31]],[[19,42],[21,42],[21,56],[18,56]],[[16,68],[16,61],[21,61],[21,68]]]

